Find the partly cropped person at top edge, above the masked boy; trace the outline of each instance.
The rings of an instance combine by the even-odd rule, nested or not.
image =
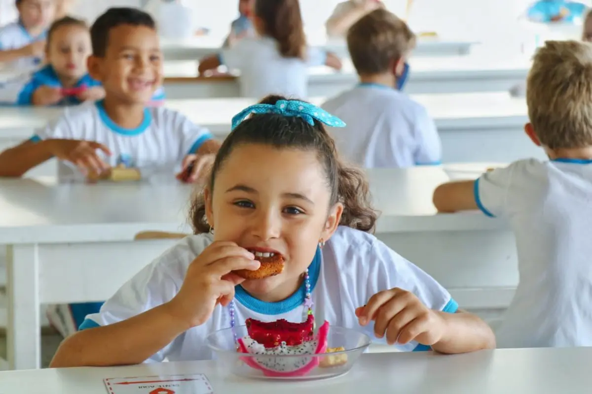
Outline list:
[[[337,4],[333,14],[325,24],[329,37],[345,37],[353,24],[364,15],[378,8],[384,8],[378,0],[347,0]]]

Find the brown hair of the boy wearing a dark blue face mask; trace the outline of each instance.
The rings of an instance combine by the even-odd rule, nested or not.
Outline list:
[[[377,9],[348,31],[348,49],[360,75],[382,74],[415,45],[415,34],[395,14]]]

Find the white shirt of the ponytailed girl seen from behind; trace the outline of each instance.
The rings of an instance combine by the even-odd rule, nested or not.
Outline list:
[[[308,67],[321,66],[326,51],[308,48],[306,59],[282,57],[278,43],[270,37],[243,38],[218,54],[220,64],[239,70],[240,95],[261,99],[276,94],[294,99],[308,95]]]

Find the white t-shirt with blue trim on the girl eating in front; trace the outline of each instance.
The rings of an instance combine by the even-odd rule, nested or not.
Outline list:
[[[181,288],[189,264],[212,242],[209,234],[181,240],[124,284],[99,313],[88,315],[81,330],[117,323],[170,301]],[[384,338],[374,337],[373,323],[366,327],[358,324],[355,309],[379,291],[403,288],[434,310],[454,313],[458,309],[458,304],[435,279],[373,235],[349,227],[340,226],[324,248],[317,249],[308,272],[315,319],[363,331],[378,343],[386,342]],[[288,299],[268,303],[251,297],[237,286],[234,299],[237,324],[243,325],[249,317],[262,321],[285,318],[300,323],[305,312],[304,291],[303,284]],[[186,331],[147,361],[209,360],[213,354],[205,337],[229,327],[229,309],[218,305],[206,323]],[[429,349],[416,342],[397,347],[403,351]]]

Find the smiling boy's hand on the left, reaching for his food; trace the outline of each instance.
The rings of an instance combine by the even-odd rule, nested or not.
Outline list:
[[[50,139],[49,141],[51,141],[50,152],[55,157],[72,162],[84,175],[88,175],[89,172],[102,174],[110,169],[110,166],[96,154],[96,149],[100,149],[105,154],[111,155],[111,151],[105,145],[78,139]]]

